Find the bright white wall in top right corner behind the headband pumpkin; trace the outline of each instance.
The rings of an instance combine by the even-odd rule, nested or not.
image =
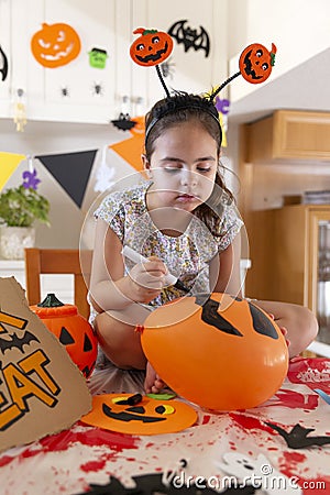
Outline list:
[[[231,0],[229,2],[228,55],[230,74],[238,70],[242,50],[251,43],[277,46],[276,70],[279,77],[330,46],[329,0]],[[267,82],[266,82],[267,84]],[[230,88],[235,101],[257,89],[242,79]]]

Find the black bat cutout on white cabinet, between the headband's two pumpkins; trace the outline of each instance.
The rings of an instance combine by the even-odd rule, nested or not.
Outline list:
[[[175,22],[167,33],[169,36],[174,37],[178,44],[184,44],[185,52],[188,52],[190,48],[194,48],[195,52],[204,50],[205,56],[208,57],[210,53],[210,38],[207,31],[201,25],[199,26],[199,32],[189,26],[185,28],[186,22],[188,22],[187,19]]]

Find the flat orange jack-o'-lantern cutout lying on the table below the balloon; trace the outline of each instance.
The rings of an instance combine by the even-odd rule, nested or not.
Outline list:
[[[174,433],[196,420],[196,410],[180,400],[156,400],[141,394],[96,395],[91,411],[81,418],[88,425],[131,435]]]

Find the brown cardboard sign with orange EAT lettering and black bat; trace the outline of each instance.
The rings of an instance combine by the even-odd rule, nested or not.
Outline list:
[[[69,428],[90,410],[91,396],[14,277],[0,278],[0,450],[6,450]]]

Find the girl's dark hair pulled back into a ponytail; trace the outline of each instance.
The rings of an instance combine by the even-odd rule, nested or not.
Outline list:
[[[155,141],[163,132],[180,122],[198,121],[198,123],[213,138],[218,150],[218,170],[211,196],[206,202],[194,211],[211,231],[219,235],[222,221],[222,211],[228,205],[234,202],[232,193],[226,187],[220,163],[222,131],[218,110],[210,98],[186,92],[176,92],[174,96],[157,101],[145,116],[145,156],[150,161],[155,148]]]

